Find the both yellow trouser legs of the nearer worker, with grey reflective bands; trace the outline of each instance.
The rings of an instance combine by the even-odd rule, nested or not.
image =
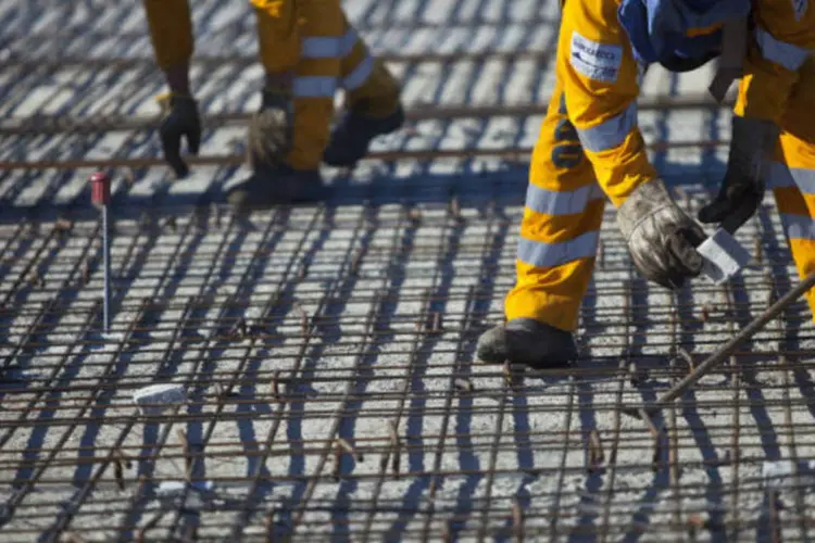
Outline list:
[[[781,122],[768,186],[773,188],[792,257],[803,278],[815,270],[815,61]],[[605,197],[570,125],[555,86],[532,153],[506,319],[528,317],[563,330],[577,327],[591,280]],[[807,295],[815,319],[815,291]]]

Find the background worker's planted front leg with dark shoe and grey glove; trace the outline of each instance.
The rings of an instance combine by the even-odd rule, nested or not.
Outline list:
[[[322,198],[319,175],[338,88],[346,21],[340,0],[250,0],[255,9],[263,106],[249,129],[253,175],[228,197],[236,207]]]

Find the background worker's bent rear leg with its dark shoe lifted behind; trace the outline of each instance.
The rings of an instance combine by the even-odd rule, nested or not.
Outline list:
[[[324,160],[331,166],[350,167],[367,154],[374,138],[404,124],[404,112],[399,101],[399,83],[381,60],[371,55],[348,23],[340,77],[346,91],[346,114],[331,135]]]

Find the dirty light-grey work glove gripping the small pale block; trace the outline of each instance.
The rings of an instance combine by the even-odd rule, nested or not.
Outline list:
[[[635,189],[617,210],[617,226],[645,279],[677,289],[702,272],[695,248],[704,241],[704,231],[679,209],[662,180]]]

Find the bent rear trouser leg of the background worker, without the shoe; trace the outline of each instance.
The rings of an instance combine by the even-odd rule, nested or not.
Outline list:
[[[346,106],[362,110],[371,117],[385,117],[399,106],[399,83],[374,59],[363,39],[347,24],[342,43],[340,86],[346,90]]]

